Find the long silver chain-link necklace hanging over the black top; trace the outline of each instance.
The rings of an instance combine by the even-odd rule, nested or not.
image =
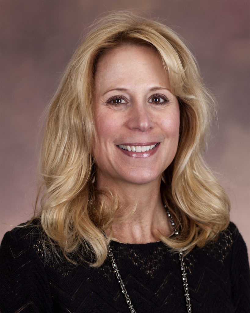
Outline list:
[[[164,207],[165,207],[165,209],[167,209],[166,205]],[[178,230],[177,230],[177,228],[175,226],[175,223],[174,223],[173,218],[172,218],[171,214],[169,213],[169,211],[167,211],[167,215],[168,215],[169,221],[171,223],[171,226],[173,227],[175,235],[178,235]],[[116,278],[118,280],[118,283],[121,286],[122,293],[123,293],[123,295],[124,295],[124,297],[126,299],[126,302],[128,304],[128,308],[129,308],[131,313],[136,313],[136,311],[134,309],[134,306],[131,303],[131,300],[130,300],[130,297],[128,295],[128,292],[127,292],[127,290],[125,288],[125,285],[123,284],[123,280],[122,280],[121,275],[119,273],[118,266],[117,266],[117,264],[115,262],[112,249],[110,248],[109,245],[108,245],[108,255],[110,257],[110,261],[111,261],[111,264],[112,264],[112,267],[113,267],[114,274],[115,274],[115,276],[116,276]],[[190,297],[189,297],[189,291],[188,291],[188,286],[187,286],[186,267],[185,267],[185,263],[184,263],[184,260],[183,260],[183,252],[179,252],[179,260],[180,260],[181,271],[182,271],[182,280],[183,280],[183,287],[184,287],[184,297],[186,299],[187,312],[188,313],[192,313]]]

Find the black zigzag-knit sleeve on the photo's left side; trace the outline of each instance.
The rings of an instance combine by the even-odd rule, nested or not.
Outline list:
[[[44,264],[33,249],[32,235],[22,231],[14,229],[2,239],[0,312],[50,313],[53,305]]]

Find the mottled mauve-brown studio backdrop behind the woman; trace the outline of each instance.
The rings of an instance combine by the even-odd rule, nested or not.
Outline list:
[[[206,159],[250,250],[249,0],[1,1],[1,223],[27,221],[37,191],[41,116],[78,41],[100,14],[138,9],[186,39],[216,95]]]

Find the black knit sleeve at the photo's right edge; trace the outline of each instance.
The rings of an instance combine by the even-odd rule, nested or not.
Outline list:
[[[250,274],[246,244],[234,225],[231,260],[232,303],[236,313],[250,312]]]

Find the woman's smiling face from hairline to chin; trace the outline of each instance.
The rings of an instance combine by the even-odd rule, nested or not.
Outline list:
[[[178,100],[157,52],[128,45],[104,54],[94,87],[96,179],[145,184],[161,179],[179,138]]]

